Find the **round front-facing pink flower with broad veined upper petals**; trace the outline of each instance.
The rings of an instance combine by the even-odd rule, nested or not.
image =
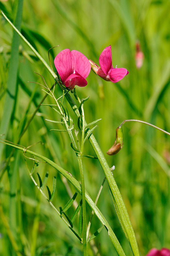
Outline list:
[[[54,65],[61,77],[62,83],[70,90],[75,85],[86,86],[85,78],[90,73],[90,62],[87,57],[76,50],[65,49],[57,54]]]

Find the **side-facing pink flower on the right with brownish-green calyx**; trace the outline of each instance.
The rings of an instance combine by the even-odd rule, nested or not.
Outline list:
[[[100,54],[99,64],[101,68],[92,60],[89,61],[91,69],[106,81],[116,83],[129,73],[126,68],[117,68],[117,66],[113,68],[111,45],[107,46]]]

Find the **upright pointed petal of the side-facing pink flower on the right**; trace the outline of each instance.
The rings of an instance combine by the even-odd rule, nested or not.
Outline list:
[[[112,50],[111,45],[107,46],[99,57],[99,64],[105,75],[112,68]]]

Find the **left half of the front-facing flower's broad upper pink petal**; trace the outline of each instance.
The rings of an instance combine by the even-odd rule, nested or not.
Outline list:
[[[74,71],[72,70],[70,50],[64,49],[59,52],[54,59],[54,65],[61,77],[62,83],[64,83],[67,77]]]

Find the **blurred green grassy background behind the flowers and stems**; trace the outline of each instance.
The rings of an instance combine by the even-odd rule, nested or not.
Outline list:
[[[0,9],[13,22],[18,3],[21,13],[21,0],[0,1]],[[21,31],[47,63],[48,49],[60,45],[50,50],[52,65],[57,53],[65,48],[78,50],[99,64],[100,53],[111,45],[113,66],[129,71],[116,84],[102,80],[91,71],[88,85],[76,90],[80,98],[90,95],[84,103],[86,121],[89,123],[102,118],[94,135],[109,166],[115,165],[113,175],[130,215],[141,255],[146,255],[153,247],[170,248],[170,138],[144,124],[129,122],[123,125],[124,147],[121,151],[114,156],[105,152],[113,145],[116,128],[124,119],[144,120],[170,131],[169,10],[169,0],[29,0],[23,3]],[[5,135],[1,138],[17,143],[45,95],[40,85],[28,81],[43,83],[34,71],[44,77],[49,87],[54,81],[28,46],[19,37],[13,38],[13,30],[2,15],[0,19],[0,133],[5,127]],[[12,41],[19,45],[19,52]],[[144,54],[140,69],[135,63],[137,41]],[[54,65],[53,68],[55,70]],[[59,88],[56,87],[55,91],[56,97],[61,96]],[[49,96],[44,103],[54,104]],[[64,101],[64,105],[73,118],[75,129],[78,129],[69,104]],[[45,118],[60,121],[55,111],[41,106],[20,144],[28,147],[43,142],[31,150],[52,159],[80,180],[68,134],[49,131],[61,126],[49,123]],[[2,214],[23,255],[82,255],[79,240],[30,179],[22,152],[14,151],[8,161],[11,152],[10,147],[0,144],[0,255],[16,255]],[[85,154],[94,155],[88,141]],[[26,159],[26,162],[31,170],[33,161]],[[104,174],[95,159],[85,158],[83,164],[85,187],[95,200]],[[37,171],[42,177],[46,171],[49,172],[47,184],[50,189],[53,176],[57,177],[53,203],[57,209],[64,207],[75,189],[47,164],[40,164]],[[38,182],[36,175],[35,179]],[[44,193],[47,195],[45,188]],[[106,183],[97,205],[126,255],[132,255]],[[69,209],[68,215],[72,216],[73,212],[74,207]],[[87,220],[90,214],[87,206]],[[91,233],[100,226],[94,216]],[[89,255],[116,255],[106,230],[103,229],[93,241],[98,253],[93,251],[93,245],[89,245]]]

